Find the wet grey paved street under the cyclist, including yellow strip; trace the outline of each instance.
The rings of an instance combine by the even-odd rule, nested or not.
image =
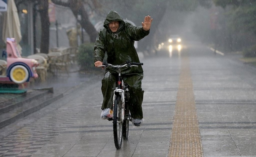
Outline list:
[[[166,56],[141,59],[144,122],[120,150],[100,119],[103,74],[73,72],[50,82],[63,98],[0,129],[0,157],[256,157],[256,68],[199,43]]]

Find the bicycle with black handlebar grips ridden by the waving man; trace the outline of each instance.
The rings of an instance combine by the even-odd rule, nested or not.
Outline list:
[[[99,67],[112,67],[118,72],[117,76],[117,88],[114,90],[113,95],[113,118],[108,120],[113,120],[113,136],[115,142],[115,148],[120,149],[123,140],[128,140],[129,133],[129,121],[132,121],[128,109],[129,100],[129,89],[128,85],[123,82],[123,77],[121,76],[121,68],[124,67],[138,67],[143,65],[143,63],[126,62],[123,65],[113,66],[112,64],[103,63]]]

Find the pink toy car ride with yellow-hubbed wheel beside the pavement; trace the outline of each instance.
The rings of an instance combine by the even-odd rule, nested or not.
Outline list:
[[[37,60],[22,58],[17,49],[15,38],[7,38],[6,52],[3,53],[3,56],[7,57],[6,76],[0,76],[1,83],[14,82],[22,84],[29,82],[31,77],[38,77],[36,71],[36,66],[38,66]]]

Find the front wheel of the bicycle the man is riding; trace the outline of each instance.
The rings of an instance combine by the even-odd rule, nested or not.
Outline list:
[[[115,148],[120,149],[123,140],[123,121],[121,120],[122,115],[122,102],[121,96],[117,95],[114,101],[113,109],[113,131],[114,131],[114,142]]]

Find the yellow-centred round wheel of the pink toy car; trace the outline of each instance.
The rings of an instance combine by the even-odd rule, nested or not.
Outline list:
[[[28,79],[29,73],[27,71],[27,68],[21,65],[17,65],[11,68],[9,77],[14,83],[22,84]]]

